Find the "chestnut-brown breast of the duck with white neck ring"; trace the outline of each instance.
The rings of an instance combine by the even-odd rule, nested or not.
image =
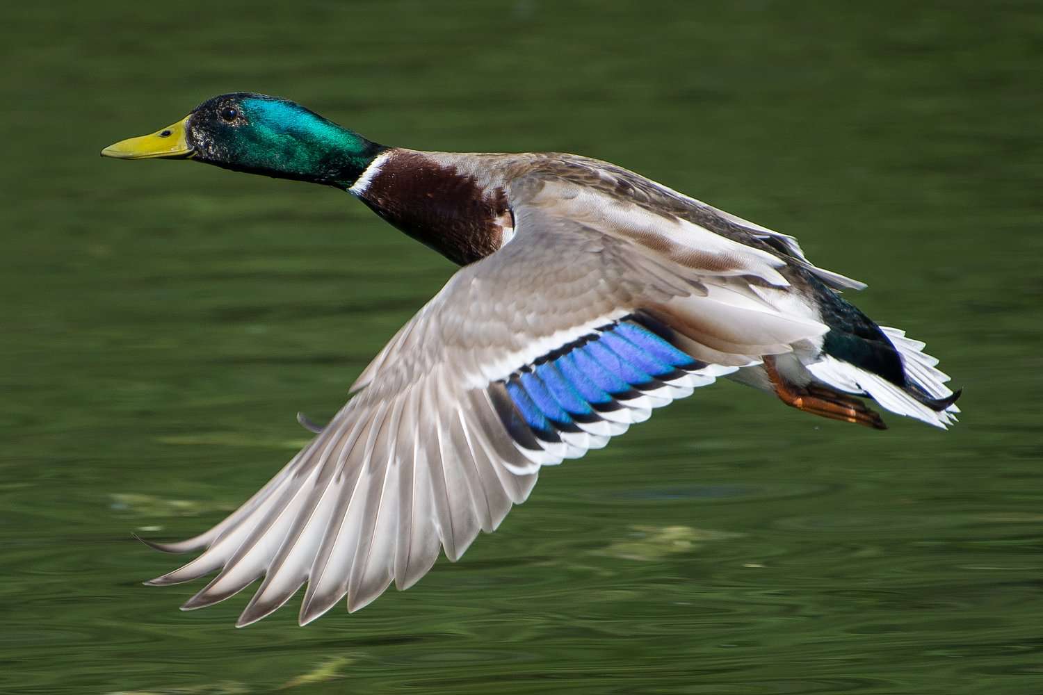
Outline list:
[[[507,194],[435,154],[390,149],[348,189],[374,213],[459,265],[499,249],[513,231]]]

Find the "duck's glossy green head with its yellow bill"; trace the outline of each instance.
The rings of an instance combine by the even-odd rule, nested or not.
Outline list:
[[[348,188],[384,149],[287,99],[222,94],[157,132],[101,151],[123,159],[192,158],[224,169]]]

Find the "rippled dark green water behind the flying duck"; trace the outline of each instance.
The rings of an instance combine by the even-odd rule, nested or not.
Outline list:
[[[1043,691],[1043,22],[946,7],[0,10],[0,690]],[[453,271],[346,194],[98,157],[232,90],[383,143],[599,156],[795,233],[928,341],[964,422],[723,383],[361,613],[180,613],[201,585],[141,586],[177,559],[130,532],[244,500]]]

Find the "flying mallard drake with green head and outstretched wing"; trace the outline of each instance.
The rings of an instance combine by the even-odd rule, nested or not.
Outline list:
[[[462,266],[260,492],[168,552],[150,585],[217,576],[185,610],[263,581],[238,624],[307,584],[301,625],[456,561],[539,469],[605,446],[718,377],[883,429],[862,400],[945,428],[960,392],[923,343],[878,326],[797,240],[574,154],[385,147],[286,99],[224,94],[106,147],[347,191]]]

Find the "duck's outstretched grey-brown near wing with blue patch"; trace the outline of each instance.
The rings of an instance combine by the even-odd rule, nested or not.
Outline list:
[[[541,466],[826,330],[751,290],[785,282],[771,254],[710,232],[700,250],[657,246],[556,187],[515,184],[514,239],[461,269],[249,501],[157,545],[205,550],[150,584],[219,571],[184,606],[195,609],[264,577],[239,625],[306,584],[301,624],[345,595],[358,610],[392,580],[416,582],[439,547],[457,560],[527,498]]]

